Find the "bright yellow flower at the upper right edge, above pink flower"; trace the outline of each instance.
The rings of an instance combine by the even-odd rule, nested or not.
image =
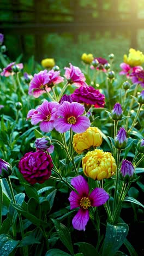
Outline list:
[[[141,51],[136,51],[133,48],[129,49],[129,55],[124,54],[123,61],[131,67],[141,66],[144,63],[144,55]]]

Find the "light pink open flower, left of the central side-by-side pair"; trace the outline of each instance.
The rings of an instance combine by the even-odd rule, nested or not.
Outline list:
[[[40,130],[43,132],[49,132],[53,130],[55,120],[58,118],[59,103],[55,101],[44,101],[38,108],[37,113],[34,109],[28,112],[27,118],[31,118],[32,125],[40,123]]]

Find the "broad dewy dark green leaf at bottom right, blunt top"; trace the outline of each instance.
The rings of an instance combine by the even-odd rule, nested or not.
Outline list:
[[[128,229],[129,227],[125,223],[118,223],[116,225],[107,223],[103,253],[101,255],[115,255],[118,249],[123,245],[128,234]]]

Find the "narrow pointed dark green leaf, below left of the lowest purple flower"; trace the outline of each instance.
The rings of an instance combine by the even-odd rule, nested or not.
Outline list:
[[[68,228],[62,223],[58,222],[58,220],[52,219],[52,222],[55,225],[59,239],[63,242],[69,252],[74,254],[73,244],[71,243],[71,237]]]

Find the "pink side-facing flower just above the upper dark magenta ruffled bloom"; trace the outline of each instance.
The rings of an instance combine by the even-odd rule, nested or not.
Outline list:
[[[65,77],[67,78],[69,84],[75,84],[75,86],[88,86],[85,83],[85,75],[81,72],[79,67],[75,67],[69,63],[70,68],[65,67]]]

